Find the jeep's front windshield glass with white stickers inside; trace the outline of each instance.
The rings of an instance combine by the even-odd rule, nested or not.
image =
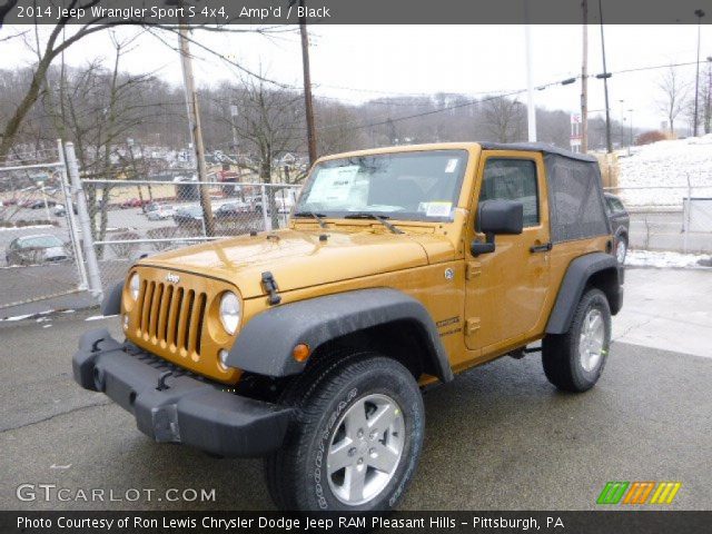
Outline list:
[[[318,164],[295,212],[376,214],[402,220],[452,220],[466,150],[378,154]]]

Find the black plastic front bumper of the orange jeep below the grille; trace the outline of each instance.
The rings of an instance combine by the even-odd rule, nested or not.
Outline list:
[[[103,392],[132,413],[139,431],[156,442],[182,443],[220,456],[263,456],[276,451],[291,415],[289,408],[226,392],[219,384],[121,344],[106,328],[81,337],[72,368],[81,387]]]

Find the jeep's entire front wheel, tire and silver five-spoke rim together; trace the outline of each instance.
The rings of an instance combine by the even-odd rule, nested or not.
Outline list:
[[[285,398],[295,417],[266,461],[278,507],[385,511],[404,494],[423,446],[423,398],[413,375],[375,353],[326,355]]]

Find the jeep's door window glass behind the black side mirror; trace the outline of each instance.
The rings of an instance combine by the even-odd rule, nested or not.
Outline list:
[[[487,159],[479,194],[483,200],[517,200],[524,205],[524,226],[538,225],[536,164],[531,159]]]

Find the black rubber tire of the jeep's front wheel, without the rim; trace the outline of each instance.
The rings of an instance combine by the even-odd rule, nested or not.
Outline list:
[[[332,490],[325,455],[342,418],[369,395],[387,395],[400,408],[403,448],[379,493],[350,505]],[[423,397],[408,369],[377,353],[328,354],[295,380],[281,403],[294,406],[295,416],[283,447],[265,461],[267,487],[280,510],[387,511],[397,504],[415,473],[425,431]]]

